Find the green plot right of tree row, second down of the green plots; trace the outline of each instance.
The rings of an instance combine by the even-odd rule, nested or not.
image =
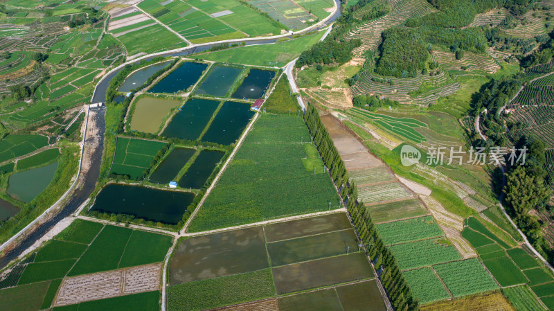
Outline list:
[[[398,267],[401,270],[461,259],[454,247],[443,245],[441,242],[431,239],[394,245],[391,247],[391,251],[398,260]]]

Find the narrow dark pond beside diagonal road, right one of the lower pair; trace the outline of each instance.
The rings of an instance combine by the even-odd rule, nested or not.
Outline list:
[[[202,150],[185,175],[179,179],[179,187],[199,189],[206,184],[217,162],[224,153],[215,150]]]

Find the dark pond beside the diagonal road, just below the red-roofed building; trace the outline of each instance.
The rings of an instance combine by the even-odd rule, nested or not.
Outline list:
[[[202,137],[202,141],[231,145],[254,115],[249,104],[225,102]]]

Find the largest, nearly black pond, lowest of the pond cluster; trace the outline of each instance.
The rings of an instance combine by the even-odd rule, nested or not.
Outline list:
[[[194,197],[193,193],[109,184],[100,190],[91,210],[177,224]]]

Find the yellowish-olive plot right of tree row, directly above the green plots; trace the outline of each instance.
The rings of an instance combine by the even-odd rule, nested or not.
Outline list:
[[[370,205],[366,208],[374,222],[390,222],[409,217],[427,215],[429,212],[419,199],[405,199],[398,202]]]

